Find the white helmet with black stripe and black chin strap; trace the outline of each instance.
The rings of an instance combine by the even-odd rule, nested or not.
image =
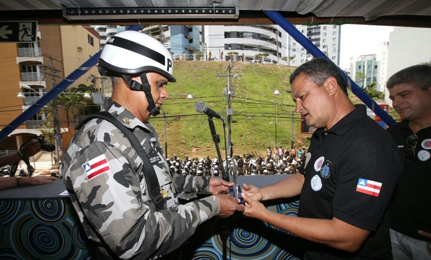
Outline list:
[[[157,72],[175,82],[173,62],[167,48],[160,41],[142,32],[124,30],[106,42],[99,57],[99,73],[122,77],[131,89],[144,91],[148,100],[147,110],[155,116],[160,108],[155,106],[147,71]],[[131,76],[141,77],[142,84]]]

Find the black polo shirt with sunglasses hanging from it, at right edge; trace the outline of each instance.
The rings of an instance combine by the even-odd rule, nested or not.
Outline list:
[[[387,131],[403,153],[411,148],[406,142],[413,131],[408,121],[390,126]],[[417,143],[412,160],[404,160],[391,201],[391,228],[419,240],[431,240],[417,230],[431,232],[431,126],[416,133]]]

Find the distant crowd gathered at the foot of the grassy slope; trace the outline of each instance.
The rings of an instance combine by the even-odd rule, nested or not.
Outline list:
[[[206,157],[194,158],[188,155],[181,159],[174,154],[170,159],[167,158],[168,167],[171,173],[196,176],[221,176],[223,165],[224,169],[233,174],[234,159],[236,161],[236,171],[238,175],[273,175],[273,174],[293,174],[296,173],[302,162],[304,161],[304,153],[306,147],[300,147],[298,150],[283,149],[282,146],[268,146],[266,156],[258,155],[257,157],[251,154],[233,154],[227,156],[227,159],[220,163],[217,157],[211,159],[209,155]]]

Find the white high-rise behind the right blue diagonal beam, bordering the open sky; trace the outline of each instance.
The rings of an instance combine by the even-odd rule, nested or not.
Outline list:
[[[316,47],[325,53],[335,64],[340,65],[340,34],[341,26],[323,24],[315,26],[294,25],[302,34],[307,36]],[[290,65],[299,66],[310,60],[312,55],[299,44],[291,35],[287,41]]]

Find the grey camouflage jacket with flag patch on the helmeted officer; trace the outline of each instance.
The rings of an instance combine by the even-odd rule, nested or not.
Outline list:
[[[105,110],[133,130],[154,167],[165,209],[156,210],[148,195],[143,163],[113,124],[92,119],[71,140],[60,173],[88,237],[98,249],[122,259],[157,258],[178,248],[199,223],[217,215],[214,196],[179,204],[177,193],[208,193],[209,179],[170,175],[160,140],[150,123],[142,123],[111,99]],[[195,195],[194,195],[195,196]]]

